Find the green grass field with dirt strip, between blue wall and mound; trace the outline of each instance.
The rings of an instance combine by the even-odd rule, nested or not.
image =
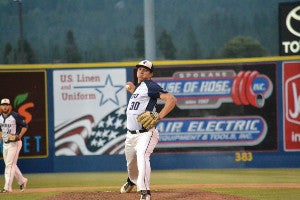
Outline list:
[[[126,172],[25,174],[27,190],[0,194],[0,199],[38,200],[61,192],[119,191],[127,178]],[[254,200],[300,199],[300,169],[226,169],[152,171],[154,190],[172,190],[183,184],[187,189],[204,190],[247,197]],[[0,176],[4,184],[3,175]],[[197,186],[195,188],[195,186]],[[43,191],[44,188],[54,188]],[[56,189],[55,189],[56,188]],[[73,188],[73,189],[72,189]],[[3,196],[1,196],[3,195]]]

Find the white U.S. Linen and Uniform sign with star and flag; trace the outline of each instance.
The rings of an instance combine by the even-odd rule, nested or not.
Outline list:
[[[123,151],[125,83],[125,69],[53,72],[56,156]]]

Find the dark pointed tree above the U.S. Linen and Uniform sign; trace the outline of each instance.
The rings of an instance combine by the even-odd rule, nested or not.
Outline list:
[[[81,55],[75,43],[73,32],[71,30],[67,32],[65,61],[67,63],[79,63],[81,61]]]

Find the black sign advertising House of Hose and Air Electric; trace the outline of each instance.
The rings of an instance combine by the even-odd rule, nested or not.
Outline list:
[[[177,98],[157,125],[156,151],[277,150],[276,69],[272,63],[156,67],[153,81]]]

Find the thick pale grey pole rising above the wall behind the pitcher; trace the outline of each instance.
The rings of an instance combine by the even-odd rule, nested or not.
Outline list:
[[[154,0],[144,0],[145,58],[156,59]]]

